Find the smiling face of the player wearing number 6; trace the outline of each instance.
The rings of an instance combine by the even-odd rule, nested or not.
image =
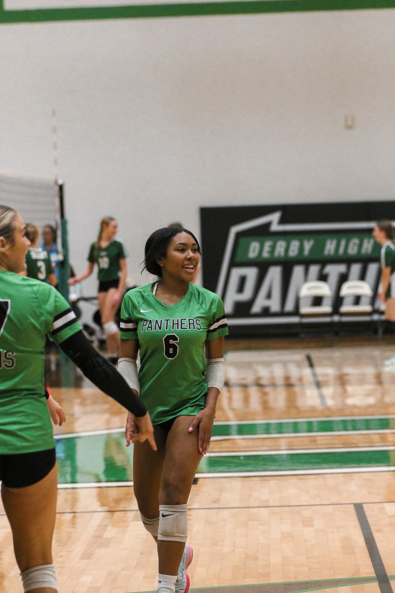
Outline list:
[[[194,238],[187,232],[177,233],[169,243],[165,259],[158,260],[163,278],[167,275],[183,282],[192,282],[200,256]]]

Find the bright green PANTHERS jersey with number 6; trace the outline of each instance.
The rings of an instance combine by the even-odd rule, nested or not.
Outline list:
[[[153,424],[159,424],[203,410],[204,343],[229,332],[223,303],[214,292],[190,283],[181,301],[165,305],[152,287],[140,286],[124,296],[120,337],[139,340],[140,395]]]

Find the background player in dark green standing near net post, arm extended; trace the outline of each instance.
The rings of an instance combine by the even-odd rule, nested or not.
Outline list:
[[[115,323],[115,313],[123,296],[126,282],[127,249],[123,241],[115,239],[118,223],[112,216],[106,216],[100,222],[100,231],[95,243],[92,243],[88,254],[88,267],[79,276],[69,279],[73,285],[88,278],[93,272],[95,263],[98,264],[98,301],[101,323],[107,342],[107,354],[111,362],[118,360],[120,340],[118,326]]]

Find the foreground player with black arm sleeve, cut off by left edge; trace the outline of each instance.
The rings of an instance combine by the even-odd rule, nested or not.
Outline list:
[[[46,282],[19,275],[29,245],[20,214],[0,206],[1,496],[24,591],[54,593],[57,475],[43,395],[47,334],[97,387],[137,414],[133,438],[156,446],[142,400],[91,346],[68,302]]]

